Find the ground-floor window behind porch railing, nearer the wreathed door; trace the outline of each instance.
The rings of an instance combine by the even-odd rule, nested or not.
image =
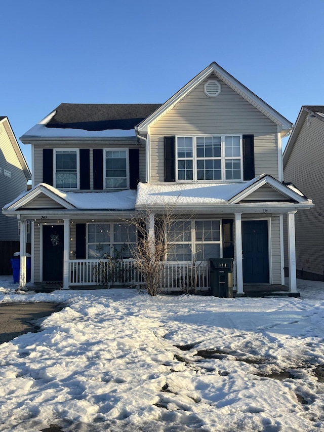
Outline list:
[[[102,259],[104,255],[132,258],[136,248],[135,224],[118,222],[88,223],[88,259]]]

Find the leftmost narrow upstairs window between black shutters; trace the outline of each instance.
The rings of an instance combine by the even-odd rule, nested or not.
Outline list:
[[[58,189],[78,189],[78,158],[78,150],[55,150],[55,187]]]

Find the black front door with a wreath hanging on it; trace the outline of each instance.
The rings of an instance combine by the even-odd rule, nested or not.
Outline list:
[[[43,281],[63,281],[63,225],[43,225]]]

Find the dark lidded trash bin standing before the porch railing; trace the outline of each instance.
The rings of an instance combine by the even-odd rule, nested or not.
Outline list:
[[[215,297],[233,297],[233,259],[210,258],[211,294]]]

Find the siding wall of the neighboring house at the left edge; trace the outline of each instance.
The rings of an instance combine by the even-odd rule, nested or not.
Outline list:
[[[18,241],[17,219],[6,217],[1,210],[27,189],[27,179],[4,123],[0,126],[0,240]]]

